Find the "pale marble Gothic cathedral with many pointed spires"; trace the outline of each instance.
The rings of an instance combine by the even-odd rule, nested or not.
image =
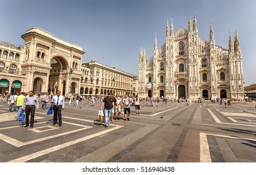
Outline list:
[[[193,27],[189,14],[188,30],[173,31],[167,22],[163,46],[157,47],[150,60],[141,48],[139,55],[139,96],[169,98],[244,98],[242,53],[238,33],[235,40],[227,32],[228,48],[215,44],[213,24],[210,39],[198,36],[196,15]]]

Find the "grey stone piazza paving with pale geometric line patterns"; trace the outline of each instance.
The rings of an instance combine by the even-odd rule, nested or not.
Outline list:
[[[140,116],[132,107],[131,121],[109,128],[100,103],[65,107],[61,127],[40,109],[24,128],[0,100],[0,162],[256,162],[255,104],[142,104]]]

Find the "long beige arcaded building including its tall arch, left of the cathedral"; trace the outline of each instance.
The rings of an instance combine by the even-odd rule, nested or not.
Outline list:
[[[33,27],[21,36],[23,46],[0,41],[0,96],[22,91],[55,94],[134,94],[133,78],[110,66],[88,61],[81,46]]]

